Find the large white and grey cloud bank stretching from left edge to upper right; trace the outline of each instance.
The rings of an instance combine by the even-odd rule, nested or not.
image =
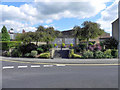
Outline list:
[[[52,0],[53,1],[53,0]],[[34,30],[31,27],[35,24],[46,23],[50,24],[53,20],[59,20],[61,18],[89,18],[97,15],[102,10],[106,9],[107,2],[112,0],[35,0],[34,3],[24,4],[20,7],[0,5],[0,12],[2,12],[1,23],[7,25],[7,27],[15,28],[19,31],[22,28],[27,30]],[[105,11],[102,12],[103,15]],[[107,15],[107,14],[106,14]],[[98,21],[102,24],[103,17]],[[22,27],[22,28],[21,28]],[[28,27],[28,28],[27,28]]]

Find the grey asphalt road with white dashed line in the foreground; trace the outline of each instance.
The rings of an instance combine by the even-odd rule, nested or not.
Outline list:
[[[118,66],[2,61],[3,88],[118,88]]]

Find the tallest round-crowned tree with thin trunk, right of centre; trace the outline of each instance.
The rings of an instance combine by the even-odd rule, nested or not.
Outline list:
[[[88,47],[89,39],[94,39],[100,36],[103,33],[103,30],[98,23],[91,21],[85,21],[82,25],[81,37],[87,40]]]

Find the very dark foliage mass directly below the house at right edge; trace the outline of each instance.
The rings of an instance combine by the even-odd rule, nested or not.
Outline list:
[[[114,38],[110,38],[104,42],[106,49],[117,49],[118,48],[118,41]]]

